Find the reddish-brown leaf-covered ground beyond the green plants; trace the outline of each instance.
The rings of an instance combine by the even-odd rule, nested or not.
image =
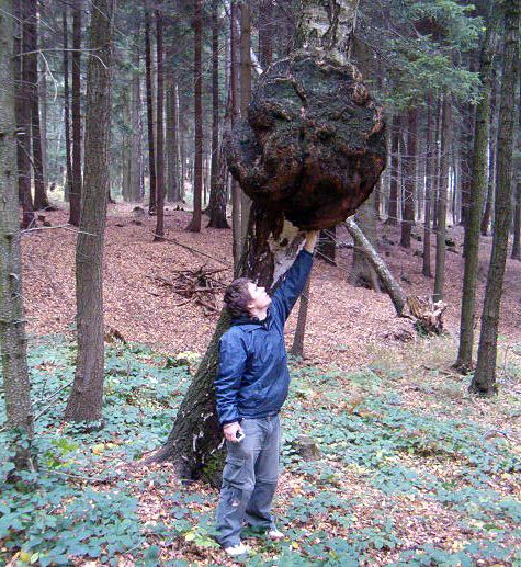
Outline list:
[[[156,218],[133,213],[133,205],[111,205],[105,235],[104,311],[107,327],[126,340],[155,344],[171,352],[204,352],[218,314],[194,303],[184,303],[159,279],[173,280],[174,270],[224,269],[217,274],[224,283],[233,279],[231,230],[204,228],[188,233],[191,213],[167,208],[165,242],[152,242]],[[67,223],[64,211],[46,213],[53,225]],[[139,224],[136,224],[139,223]],[[207,224],[203,219],[203,226]],[[422,236],[420,226],[415,230]],[[399,229],[381,224],[378,250],[407,294],[432,293],[433,280],[421,274],[418,256],[422,242],[412,240],[410,250],[399,246]],[[446,252],[445,329],[456,337],[463,281],[463,229],[449,228],[456,252]],[[337,239],[352,240],[338,230]],[[200,250],[203,256],[171,240]],[[73,325],[75,241],[69,230],[47,229],[23,237],[23,284],[29,331],[35,336],[67,333]],[[477,306],[483,305],[491,237],[482,239]],[[432,258],[435,246],[432,245]],[[407,320],[396,317],[388,296],[348,283],[352,250],[337,250],[337,265],[316,260],[313,269],[309,313],[304,351],[310,362],[354,370],[367,364],[373,350],[401,349],[404,339],[415,340]],[[500,337],[505,347],[521,342],[521,262],[508,260],[501,302]],[[220,296],[218,296],[220,302]],[[290,347],[296,326],[298,305],[286,325]],[[480,315],[480,314],[479,314]],[[478,318],[476,320],[479,320]],[[476,332],[477,334],[477,332]],[[406,345],[406,348],[408,348]]]

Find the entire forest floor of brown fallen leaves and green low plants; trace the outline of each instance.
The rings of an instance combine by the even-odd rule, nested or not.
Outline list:
[[[8,486],[0,463],[0,565],[234,565],[212,537],[218,491],[182,485],[169,464],[140,466],[166,439],[216,321],[193,303],[177,305],[185,299],[156,276],[229,262],[230,231],[189,234],[189,218],[169,211],[167,237],[216,260],[151,242],[155,219],[136,218],[132,207],[111,211],[105,316],[129,343],[107,344],[104,428],[94,432],[61,422],[76,355],[75,235],[57,228],[23,237],[39,472]],[[47,219],[59,225],[66,216]],[[421,242],[405,251],[389,242],[398,242],[396,228],[381,228],[381,253],[407,292],[430,293],[415,256]],[[461,251],[461,229],[452,236]],[[338,239],[350,241],[343,233]],[[490,238],[482,248],[479,297]],[[242,562],[521,566],[521,263],[508,264],[499,395],[477,399],[469,378],[451,371],[461,252],[448,253],[449,332],[430,339],[411,334],[386,295],[349,285],[351,260],[341,248],[337,267],[315,262],[307,358],[291,361],[275,498],[286,538],[250,534]],[[220,275],[229,281],[229,268]],[[317,461],[295,454],[301,434],[316,441]],[[35,476],[37,490],[27,490]]]

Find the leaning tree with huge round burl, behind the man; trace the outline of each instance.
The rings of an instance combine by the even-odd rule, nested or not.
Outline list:
[[[252,200],[237,275],[269,288],[293,263],[302,242],[298,229],[344,220],[369,196],[385,165],[381,109],[344,56],[346,24],[353,15],[348,2],[333,3],[338,10],[327,11],[319,0],[303,2],[302,48],[261,76],[247,115],[226,140],[229,170]],[[213,381],[227,326],[223,314],[173,429],[151,457],[172,460],[182,477],[215,480],[219,474],[223,435]]]

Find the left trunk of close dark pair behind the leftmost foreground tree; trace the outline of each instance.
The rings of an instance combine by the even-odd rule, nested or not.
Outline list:
[[[22,4],[23,7],[24,4]],[[20,0],[15,4],[16,22],[25,18],[24,8]],[[27,83],[27,56],[22,55],[29,52],[25,44],[26,34],[23,25],[16,26],[19,32],[14,41],[15,67],[15,112],[16,112],[16,166],[19,200],[22,204],[22,228],[30,228],[35,223],[33,197],[31,195],[31,105],[26,95],[25,84]]]

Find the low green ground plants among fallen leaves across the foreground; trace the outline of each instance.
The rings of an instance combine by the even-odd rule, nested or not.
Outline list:
[[[65,338],[30,350],[38,469],[8,484],[2,460],[0,564],[224,564],[213,538],[217,491],[182,486],[168,466],[139,466],[171,428],[191,379],[186,358],[107,347],[104,422],[94,431],[61,421],[73,360]],[[287,537],[247,534],[252,552],[242,563],[521,565],[521,402],[507,385],[476,406],[458,394],[468,378],[432,362],[420,375],[410,361],[375,360],[354,373],[292,361],[276,499]],[[509,367],[508,379],[519,379]],[[298,456],[301,434],[320,458]]]

